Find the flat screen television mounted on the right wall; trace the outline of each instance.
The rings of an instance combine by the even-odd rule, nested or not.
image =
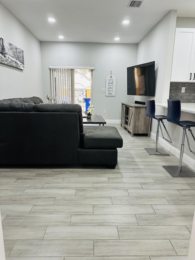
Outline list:
[[[155,94],[155,62],[127,68],[127,95],[149,96]]]

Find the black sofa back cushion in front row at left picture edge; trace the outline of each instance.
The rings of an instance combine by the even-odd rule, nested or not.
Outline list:
[[[33,112],[32,103],[0,103],[0,112]]]

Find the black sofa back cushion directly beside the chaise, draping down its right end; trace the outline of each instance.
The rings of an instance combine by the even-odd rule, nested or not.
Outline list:
[[[83,134],[82,108],[77,104],[37,104],[34,105],[34,112],[58,112],[58,113],[78,113],[79,133]]]

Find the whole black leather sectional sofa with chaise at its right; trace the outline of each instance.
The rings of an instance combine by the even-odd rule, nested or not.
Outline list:
[[[80,105],[42,102],[38,97],[0,100],[0,166],[115,168],[123,142],[114,126],[83,126]]]

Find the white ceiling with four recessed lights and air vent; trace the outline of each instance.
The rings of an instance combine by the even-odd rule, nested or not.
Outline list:
[[[144,0],[139,8],[127,7],[129,0],[0,2],[40,41],[138,43],[170,10],[177,10],[177,17],[195,17],[195,0]]]

